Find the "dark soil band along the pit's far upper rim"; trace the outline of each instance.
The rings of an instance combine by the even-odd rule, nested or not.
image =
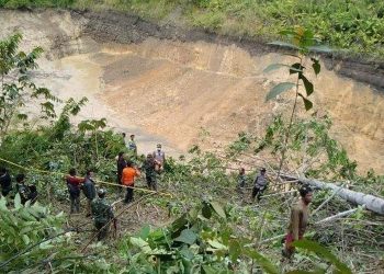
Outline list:
[[[235,44],[246,49],[251,55],[266,53],[284,53],[285,48],[267,45],[264,41],[247,37],[222,36],[212,32],[193,28],[181,28],[179,26],[165,24],[158,25],[140,19],[137,15],[118,12],[78,12],[74,16],[84,16],[89,21],[83,34],[102,43],[114,42],[118,44],[140,43],[148,37],[159,39],[172,39],[181,42],[204,41],[221,45]],[[328,69],[338,75],[353,80],[369,83],[377,90],[384,91],[384,62],[362,58],[345,58],[336,55],[323,55]]]

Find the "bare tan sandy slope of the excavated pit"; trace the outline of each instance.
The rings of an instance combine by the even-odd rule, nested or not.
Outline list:
[[[262,70],[272,62],[292,61],[286,56],[251,56],[236,45],[154,37],[100,44],[82,37],[83,19],[66,12],[0,15],[7,26],[0,36],[21,30],[24,48],[46,49],[37,82],[61,98],[89,99],[75,123],[106,117],[112,128],[136,134],[143,153],[157,142],[174,156],[193,144],[221,148],[241,130],[262,134],[273,115],[292,105],[290,94],[264,102],[269,89],[289,75]],[[373,168],[384,173],[383,92],[325,68],[310,79],[315,110],[331,116],[332,135],[361,171]]]

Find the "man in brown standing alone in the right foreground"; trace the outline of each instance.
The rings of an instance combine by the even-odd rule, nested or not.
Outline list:
[[[293,204],[291,209],[290,224],[285,236],[285,248],[283,250],[283,256],[289,259],[295,250],[292,243],[304,237],[309,217],[308,205],[313,198],[313,191],[308,185],[303,185],[298,192],[300,199]]]

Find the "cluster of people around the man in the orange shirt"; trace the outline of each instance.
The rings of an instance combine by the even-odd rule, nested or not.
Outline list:
[[[123,134],[125,137],[125,134]],[[137,146],[134,140],[135,136],[131,135],[131,140],[127,144],[127,149],[137,156]],[[144,170],[146,175],[146,182],[149,190],[157,191],[157,176],[163,171],[166,162],[165,152],[161,150],[161,144],[158,144],[156,150],[153,153],[148,153],[142,167],[137,167],[133,161],[126,159],[124,151],[121,151],[116,158],[117,168],[117,184],[120,190],[126,189],[124,198],[125,204],[129,204],[134,199],[135,180],[142,175]],[[115,221],[112,205],[106,199],[106,191],[104,189],[95,189],[95,182],[93,180],[93,171],[88,170],[86,176],[77,176],[76,169],[70,169],[65,176],[69,199],[70,199],[70,213],[80,213],[80,195],[81,191],[87,198],[87,217],[92,216],[94,220],[94,227],[98,229],[98,239],[102,240],[108,236],[109,224],[112,220]],[[97,197],[98,195],[98,197]]]

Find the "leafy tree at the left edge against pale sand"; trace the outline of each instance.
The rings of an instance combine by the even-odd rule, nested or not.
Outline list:
[[[44,118],[56,117],[54,102],[59,100],[48,89],[37,87],[32,81],[32,71],[38,67],[36,59],[43,54],[43,48],[21,52],[21,39],[22,35],[16,33],[0,41],[0,141],[14,119],[27,119],[22,107],[29,100],[39,103]]]

